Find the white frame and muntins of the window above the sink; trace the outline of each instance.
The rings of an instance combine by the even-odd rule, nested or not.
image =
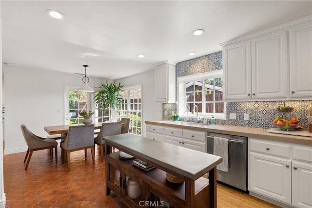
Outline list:
[[[205,83],[206,79],[210,78],[217,78],[217,77],[222,77],[223,78],[223,70],[215,70],[211,72],[205,72],[205,73],[200,73],[200,74],[195,74],[195,75],[189,75],[189,76],[180,76],[177,78],[177,109],[178,113],[182,117],[196,117],[195,113],[188,112],[186,113],[186,88],[185,88],[185,83],[187,82],[192,82],[192,81],[201,81],[202,83]],[[202,84],[201,86],[201,93],[202,95],[205,92],[205,85]],[[224,92],[224,86],[222,86],[222,92]],[[205,103],[207,102],[202,96],[202,100],[200,103],[202,104],[202,109],[205,108]],[[213,103],[218,103],[218,102],[223,102],[224,103],[224,113],[198,113],[198,116],[201,118],[212,118],[214,115],[214,118],[216,119],[226,119],[226,102],[224,101],[224,95],[222,97],[222,100],[215,101],[215,96],[214,96],[214,101]],[[193,101],[194,103],[196,102],[195,100]],[[198,101],[197,101],[198,102]],[[191,109],[190,109],[191,111]],[[215,111],[215,108],[214,108]]]

